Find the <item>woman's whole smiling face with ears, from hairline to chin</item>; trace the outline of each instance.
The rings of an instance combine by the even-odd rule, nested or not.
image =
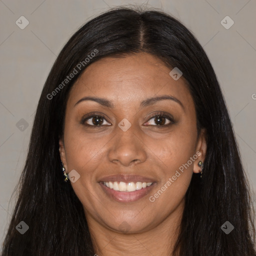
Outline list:
[[[106,57],[73,85],[59,144],[89,224],[142,232],[182,215],[206,144],[187,85],[170,71],[147,53]]]

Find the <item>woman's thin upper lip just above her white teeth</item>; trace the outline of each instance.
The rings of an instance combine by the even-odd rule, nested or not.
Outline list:
[[[98,182],[108,182],[108,181],[122,181],[122,182],[155,182],[154,179],[149,177],[144,177],[141,175],[133,175],[133,174],[114,174],[104,176],[99,179]]]

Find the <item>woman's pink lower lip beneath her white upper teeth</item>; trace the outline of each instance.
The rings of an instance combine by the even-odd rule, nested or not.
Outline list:
[[[136,200],[144,197],[146,194],[148,194],[152,190],[152,188],[154,187],[156,182],[153,182],[150,186],[141,188],[139,190],[131,191],[131,192],[116,191],[112,188],[108,188],[102,182],[99,182],[99,184],[102,187],[103,191],[110,198],[112,198],[118,202],[132,202],[132,201],[136,201]]]

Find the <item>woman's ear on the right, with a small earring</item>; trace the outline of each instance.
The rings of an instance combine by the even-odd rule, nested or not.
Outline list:
[[[198,162],[199,161],[204,162],[204,159],[205,159],[206,150],[207,150],[206,135],[207,135],[206,130],[202,129],[197,139],[196,152],[197,152],[198,158],[194,161],[194,166],[193,166],[194,173],[201,172],[201,168],[198,166]]]

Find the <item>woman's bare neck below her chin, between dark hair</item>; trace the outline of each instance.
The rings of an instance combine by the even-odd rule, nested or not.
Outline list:
[[[179,233],[184,202],[157,226],[143,232],[119,233],[86,215],[95,252],[100,256],[172,255]]]

